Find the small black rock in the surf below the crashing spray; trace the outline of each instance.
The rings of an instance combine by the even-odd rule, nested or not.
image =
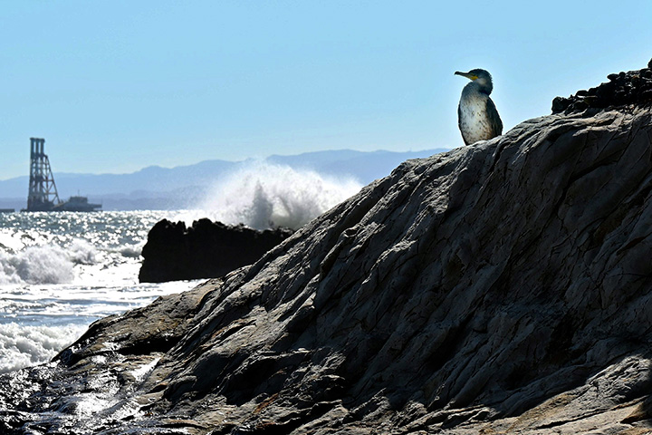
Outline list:
[[[258,231],[199,219],[192,227],[168,219],[149,231],[142,250],[141,283],[216,278],[257,261],[287,237],[288,228]]]

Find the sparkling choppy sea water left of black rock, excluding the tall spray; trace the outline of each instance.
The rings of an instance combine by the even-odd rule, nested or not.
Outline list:
[[[48,362],[93,321],[196,285],[138,282],[149,229],[179,214],[0,213],[0,372]]]

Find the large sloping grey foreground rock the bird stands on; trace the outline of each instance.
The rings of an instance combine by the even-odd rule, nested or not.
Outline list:
[[[253,266],[6,375],[2,429],[648,433],[651,144],[636,105],[408,160]]]

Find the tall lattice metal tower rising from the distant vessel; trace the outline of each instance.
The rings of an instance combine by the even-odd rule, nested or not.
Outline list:
[[[43,151],[45,140],[30,138],[30,187],[27,211],[49,211],[61,203],[54,184],[50,160]]]

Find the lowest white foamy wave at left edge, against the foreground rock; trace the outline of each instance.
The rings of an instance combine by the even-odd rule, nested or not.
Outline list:
[[[74,342],[86,325],[24,326],[0,324],[0,373],[50,361]]]

